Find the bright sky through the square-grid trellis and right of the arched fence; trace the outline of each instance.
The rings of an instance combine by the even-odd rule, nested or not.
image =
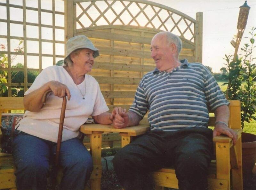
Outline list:
[[[51,7],[51,0],[42,0],[42,9],[47,9]],[[244,0],[150,0],[159,4],[169,6],[173,9],[181,11],[188,16],[196,19],[196,12],[203,12],[203,60],[204,65],[212,67],[213,72],[220,72],[220,68],[225,66],[225,60],[223,59],[225,54],[233,54],[235,48],[230,44],[230,41],[236,35],[236,25],[239,14],[239,6],[244,4]],[[0,2],[5,3],[5,0],[0,0]],[[56,11],[64,10],[63,1],[58,2],[56,6]],[[22,0],[11,0],[10,3],[22,5]],[[37,7],[37,1],[29,0],[26,1],[27,6]],[[240,48],[246,41],[244,37],[249,37],[250,28],[256,27],[256,0],[248,0],[247,4],[251,7],[246,29],[244,31],[243,40],[240,43]],[[45,6],[45,7],[44,7]],[[22,10],[12,8],[11,19],[22,21]],[[28,10],[27,10],[28,11]],[[49,13],[43,13],[42,24],[52,23],[52,18]],[[93,16],[93,15],[92,15]],[[6,19],[6,9],[4,6],[0,6],[0,18]],[[27,22],[38,22],[36,11],[27,12]],[[64,24],[64,16],[58,15],[56,18],[56,23],[60,23],[60,26]],[[58,24],[57,24],[58,25]],[[19,28],[20,27],[20,28]],[[22,25],[12,26],[11,24],[11,35],[23,36],[20,31],[23,31]],[[0,34],[6,35],[6,25],[0,22]],[[44,39],[52,40],[52,32],[50,28],[42,28],[42,37]],[[38,38],[38,29],[33,26],[27,26],[27,36],[31,38]],[[56,40],[64,41],[64,30],[56,29]],[[4,43],[6,40],[0,38],[0,43]],[[6,42],[5,42],[6,43]],[[27,42],[28,52],[38,53],[38,42]],[[11,44],[11,49],[15,48],[18,44],[18,40]],[[50,43],[44,42],[42,44],[42,53],[51,54],[52,45]],[[56,54],[64,55],[64,44],[56,44]],[[239,53],[239,52],[238,52]],[[255,55],[255,53],[254,53]],[[62,58],[56,58],[56,61]],[[22,62],[22,56],[17,56],[16,61]],[[28,66],[29,68],[37,68],[35,65],[30,64],[37,63],[38,58],[34,56],[28,56]],[[52,63],[51,57],[43,57],[43,68],[49,66]],[[30,64],[30,65],[29,65]]]

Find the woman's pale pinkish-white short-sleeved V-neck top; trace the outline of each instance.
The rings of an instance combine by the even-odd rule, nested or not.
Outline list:
[[[78,137],[80,126],[86,122],[89,116],[97,116],[108,111],[108,106],[100,92],[99,83],[92,76],[86,74],[85,80],[76,86],[63,66],[55,65],[45,68],[24,95],[51,80],[65,84],[71,93],[70,100],[67,100],[62,141]],[[86,82],[85,99],[78,90],[79,88],[84,93],[84,82]],[[40,111],[25,112],[24,118],[18,125],[18,130],[48,141],[57,142],[61,106],[62,98],[50,93]]]

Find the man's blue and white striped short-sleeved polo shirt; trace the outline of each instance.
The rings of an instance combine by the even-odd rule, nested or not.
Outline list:
[[[156,68],[141,79],[129,111],[141,117],[148,112],[150,129],[176,130],[207,127],[211,110],[229,102],[210,71],[186,59],[172,72]]]

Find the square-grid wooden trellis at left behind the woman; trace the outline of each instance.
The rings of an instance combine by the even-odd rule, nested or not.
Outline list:
[[[8,73],[4,85],[11,96],[11,87],[22,86],[26,91],[32,84],[29,72],[40,72],[64,58],[64,0],[0,1],[0,11],[0,54],[8,61],[0,71]],[[12,68],[17,63],[23,68]],[[12,81],[12,72],[23,73],[23,82]]]

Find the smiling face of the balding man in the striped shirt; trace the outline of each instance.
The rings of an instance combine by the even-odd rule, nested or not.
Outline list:
[[[172,67],[174,54],[171,46],[163,34],[156,35],[151,41],[151,57],[159,71],[166,71]]]

